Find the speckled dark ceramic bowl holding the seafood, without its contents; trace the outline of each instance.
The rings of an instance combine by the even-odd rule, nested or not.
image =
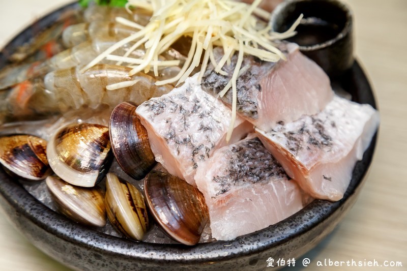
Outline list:
[[[51,25],[69,5],[38,21],[35,29]],[[30,40],[28,27],[0,53],[0,68],[16,46]],[[352,94],[355,101],[375,107],[375,101],[359,64],[336,83]],[[133,242],[81,226],[49,209],[3,170],[0,170],[0,205],[12,223],[40,250],[63,264],[82,270],[132,269],[268,269],[267,259],[297,258],[327,236],[355,203],[369,168],[376,137],[358,162],[343,199],[337,202],[315,200],[297,214],[263,230],[228,242],[212,242],[188,247]]]

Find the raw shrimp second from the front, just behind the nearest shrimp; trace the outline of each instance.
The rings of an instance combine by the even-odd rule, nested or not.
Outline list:
[[[85,41],[77,46],[60,52],[42,63],[34,62],[4,69],[0,72],[0,89],[20,83],[26,79],[45,75],[51,71],[68,69],[76,66],[84,66],[118,41],[118,39],[111,37],[96,37],[93,40]],[[124,55],[130,49],[130,47],[131,44],[125,44],[124,46],[115,50],[113,53]],[[133,58],[142,58],[145,52],[145,49],[139,48],[132,51],[129,56]],[[184,55],[179,53],[177,50],[170,48],[163,52],[158,60],[179,60],[180,62],[178,66],[182,67],[182,65],[185,63],[185,59],[186,57]],[[103,59],[100,63],[113,65],[116,62]],[[175,67],[160,69],[161,77],[163,77],[163,79],[171,78],[177,75],[179,71],[180,69]]]

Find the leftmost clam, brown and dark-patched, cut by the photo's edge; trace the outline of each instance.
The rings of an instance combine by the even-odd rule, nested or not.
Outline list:
[[[6,172],[27,180],[41,180],[52,171],[46,155],[47,142],[32,135],[0,138],[0,163]]]

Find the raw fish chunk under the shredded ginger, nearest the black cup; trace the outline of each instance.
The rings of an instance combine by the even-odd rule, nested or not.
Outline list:
[[[237,80],[238,113],[264,131],[280,122],[318,113],[334,95],[328,76],[299,51],[297,44],[283,43],[279,47],[287,61],[263,62],[244,56],[241,71],[247,70]],[[219,61],[223,50],[215,48],[214,54]],[[231,79],[236,62],[235,54],[231,65],[223,68],[227,76],[216,73],[209,65],[202,78],[202,89],[216,96]],[[231,106],[231,89],[221,99]]]

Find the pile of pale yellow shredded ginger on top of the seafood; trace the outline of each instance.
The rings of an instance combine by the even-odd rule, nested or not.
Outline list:
[[[126,9],[141,8],[153,15],[146,26],[117,18],[117,21],[132,26],[137,32],[114,44],[101,53],[81,71],[86,71],[104,58],[114,59],[118,64],[133,63],[129,75],[153,70],[157,76],[158,66],[174,65],[174,63],[157,61],[158,56],[167,50],[174,42],[183,36],[192,38],[192,45],[187,60],[178,75],[173,78],[156,82],[157,85],[175,83],[177,85],[191,75],[193,70],[201,65],[198,75],[202,79],[209,62],[215,71],[225,75],[222,68],[230,64],[231,56],[238,52],[238,61],[230,82],[219,94],[221,97],[232,88],[232,117],[226,140],[231,137],[236,119],[237,89],[236,80],[240,75],[243,55],[249,54],[263,61],[277,62],[285,59],[283,53],[274,45],[274,40],[281,40],[295,35],[295,27],[302,16],[284,33],[273,33],[265,23],[270,14],[257,8],[261,0],[255,0],[251,5],[231,0],[128,0]],[[261,20],[263,19],[263,20]],[[123,56],[112,55],[121,46],[134,42],[134,45]],[[131,51],[144,44],[146,54],[141,59],[129,60]],[[216,63],[213,48],[223,47],[224,56]],[[203,55],[203,58],[202,58]],[[202,59],[202,63],[200,63]],[[246,67],[247,68],[247,67]],[[110,89],[114,89],[111,86]]]

